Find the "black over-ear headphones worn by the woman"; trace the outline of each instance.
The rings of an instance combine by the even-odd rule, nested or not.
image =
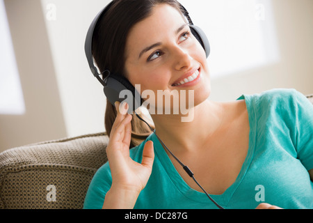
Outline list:
[[[121,75],[114,75],[114,72],[112,70],[104,70],[104,72],[99,73],[93,62],[92,50],[93,50],[93,33],[95,31],[95,26],[97,25],[99,18],[102,17],[102,15],[104,15],[109,10],[109,8],[113,6],[114,3],[115,3],[114,0],[111,1],[111,3],[109,3],[103,10],[101,10],[97,14],[93,22],[90,24],[86,36],[85,53],[91,72],[104,86],[104,94],[106,95],[106,98],[108,98],[112,105],[114,105],[116,101],[119,102],[126,101],[129,105],[129,110],[127,112],[129,114],[132,114],[132,112],[134,112],[134,110],[136,110],[138,107],[141,107],[143,103],[141,94],[138,93],[135,87],[125,77],[122,77]],[[210,54],[210,45],[207,36],[204,34],[204,31],[202,31],[202,29],[200,29],[198,26],[193,25],[191,17],[189,16],[186,8],[184,8],[182,4],[180,4],[180,7],[182,9],[182,13],[184,13],[184,16],[189,22],[191,33],[193,33],[193,36],[195,36],[195,38],[197,38],[197,40],[200,42],[206,53],[206,56],[208,57]],[[108,75],[106,75],[106,77],[102,79],[101,75],[104,75],[105,73],[107,73]],[[120,93],[122,91],[124,91],[125,95],[127,95],[127,99],[121,97],[122,95],[120,95]]]

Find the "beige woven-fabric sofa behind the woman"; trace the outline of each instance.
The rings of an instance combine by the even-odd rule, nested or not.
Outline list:
[[[1,153],[0,208],[82,208],[108,142],[105,133],[89,134]]]

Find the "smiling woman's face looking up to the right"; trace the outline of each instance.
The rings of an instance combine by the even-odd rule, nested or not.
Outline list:
[[[160,4],[152,15],[138,22],[129,32],[126,44],[126,77],[140,91],[170,94],[193,90],[194,105],[210,94],[209,69],[204,49],[192,35],[181,13]],[[186,93],[188,98],[188,92]]]

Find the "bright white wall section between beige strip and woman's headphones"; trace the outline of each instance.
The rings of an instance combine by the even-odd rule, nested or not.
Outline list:
[[[67,136],[104,131],[106,100],[84,52],[90,23],[106,1],[42,0]]]

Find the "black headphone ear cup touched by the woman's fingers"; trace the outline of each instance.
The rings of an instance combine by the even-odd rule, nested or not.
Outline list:
[[[129,105],[128,114],[133,114],[133,112],[142,105],[140,93],[138,93],[128,79],[121,75],[111,74],[106,78],[104,94],[113,106],[116,101],[127,102]]]

